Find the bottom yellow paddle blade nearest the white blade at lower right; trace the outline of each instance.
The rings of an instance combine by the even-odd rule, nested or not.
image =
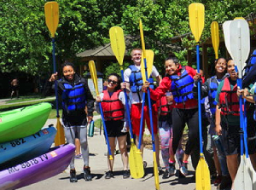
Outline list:
[[[203,156],[201,156],[195,170],[195,189],[211,190],[210,171]]]

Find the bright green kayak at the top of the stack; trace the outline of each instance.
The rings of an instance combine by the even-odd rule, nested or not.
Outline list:
[[[0,112],[0,143],[32,135],[44,126],[51,104],[44,102]]]

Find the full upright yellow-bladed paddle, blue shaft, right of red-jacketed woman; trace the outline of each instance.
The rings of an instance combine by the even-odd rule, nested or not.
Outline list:
[[[189,26],[195,37],[196,42],[196,67],[200,72],[199,59],[199,40],[204,29],[205,7],[201,3],[189,4]],[[199,137],[200,137],[200,160],[195,170],[195,188],[200,190],[211,189],[210,171],[203,155],[202,132],[201,132],[201,82],[198,81],[198,119],[199,119]]]

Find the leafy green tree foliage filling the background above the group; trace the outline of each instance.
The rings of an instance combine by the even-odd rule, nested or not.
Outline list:
[[[52,70],[52,46],[45,25],[45,0],[0,1],[0,66],[2,72],[26,72],[40,75]],[[189,33],[189,3],[192,0],[58,0],[60,22],[55,35],[58,66],[75,60],[76,54],[109,43],[108,30],[121,26],[125,34],[137,38],[132,47],[141,47],[139,19],[143,20],[146,49],[154,50],[154,65],[164,70],[163,60],[172,52],[183,65],[188,49],[194,49],[192,35],[172,42],[172,37]],[[256,1],[199,0],[206,8],[205,29],[201,42],[209,37],[213,20],[225,20],[255,13]],[[221,30],[221,27],[220,27]],[[219,32],[222,36],[222,32]],[[116,72],[118,65],[108,66],[105,76]]]

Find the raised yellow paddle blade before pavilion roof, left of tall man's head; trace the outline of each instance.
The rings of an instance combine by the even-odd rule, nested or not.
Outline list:
[[[109,30],[109,37],[113,54],[119,61],[119,65],[122,66],[125,56],[125,37],[123,29],[119,26],[111,27]]]

